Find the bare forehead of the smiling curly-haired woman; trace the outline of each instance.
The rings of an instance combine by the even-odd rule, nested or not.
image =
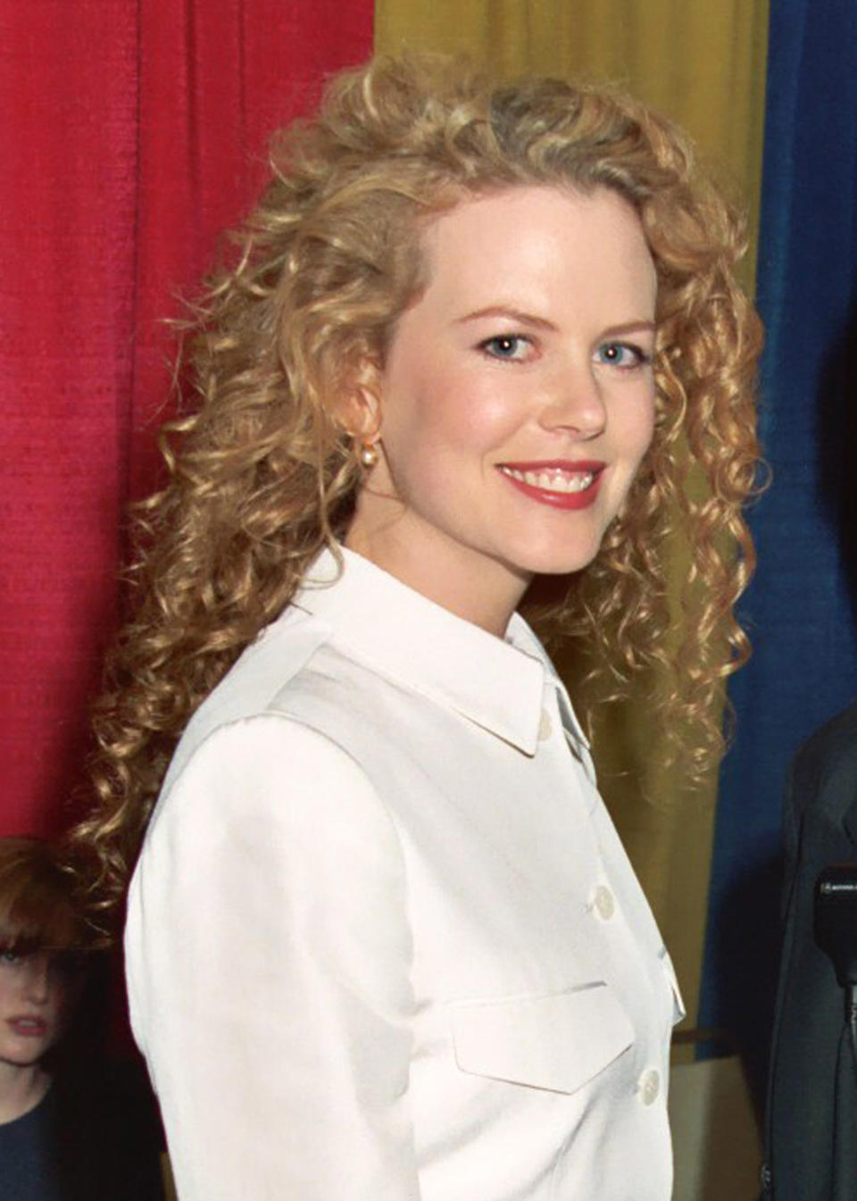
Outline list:
[[[517,186],[466,198],[422,233],[427,293],[453,303],[550,304],[569,295],[645,306],[657,275],[642,225],[617,192]],[[426,293],[426,295],[427,295]]]

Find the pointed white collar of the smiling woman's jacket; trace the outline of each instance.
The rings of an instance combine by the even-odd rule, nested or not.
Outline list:
[[[330,641],[385,679],[420,692],[534,754],[545,685],[565,689],[527,622],[505,639],[456,617],[362,556],[324,550],[293,604],[330,629]],[[562,707],[565,707],[564,705]],[[582,739],[569,705],[570,724]]]

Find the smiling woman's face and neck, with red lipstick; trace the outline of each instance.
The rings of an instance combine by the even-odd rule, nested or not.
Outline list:
[[[465,201],[424,252],[347,542],[501,632],[533,574],[594,558],[651,442],[654,265],[607,189]]]

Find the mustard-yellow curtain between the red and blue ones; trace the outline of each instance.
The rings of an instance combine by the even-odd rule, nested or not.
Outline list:
[[[709,169],[748,211],[749,286],[761,186],[768,0],[376,0],[376,49],[467,52],[507,76],[571,76],[628,86],[696,139]],[[677,546],[671,572],[681,578]],[[574,680],[574,669],[561,663]],[[714,800],[690,793],[664,753],[640,680],[598,730],[601,790],[678,970],[688,1017],[699,1008]],[[645,800],[643,797],[647,797]]]

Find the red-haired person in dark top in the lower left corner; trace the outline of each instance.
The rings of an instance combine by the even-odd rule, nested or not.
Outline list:
[[[151,1104],[73,1021],[72,894],[50,843],[0,838],[0,1201],[161,1201]],[[90,1023],[91,987],[86,1000]]]

